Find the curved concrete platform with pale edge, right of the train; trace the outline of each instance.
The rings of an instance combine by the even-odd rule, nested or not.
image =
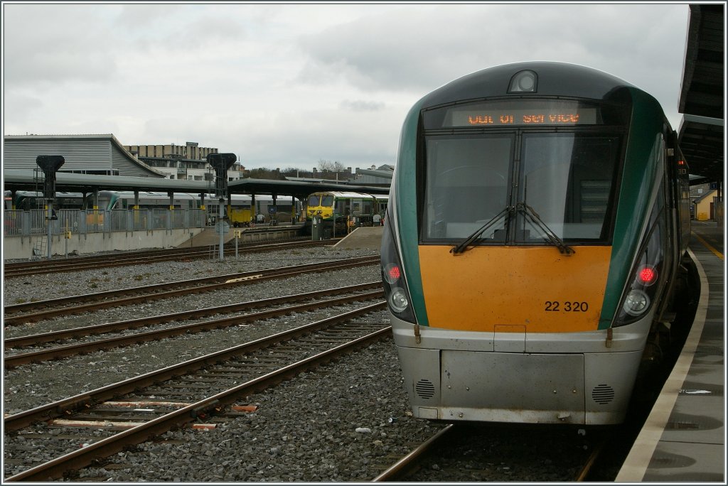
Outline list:
[[[700,273],[695,321],[673,372],[615,482],[725,484],[724,257],[706,240],[721,226],[695,225],[690,248]]]

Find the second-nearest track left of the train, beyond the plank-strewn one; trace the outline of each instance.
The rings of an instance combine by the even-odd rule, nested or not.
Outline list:
[[[332,298],[332,296],[336,295],[340,295],[340,297]],[[32,362],[61,359],[68,356],[100,351],[102,349],[133,346],[152,340],[170,338],[173,336],[202,332],[206,330],[221,329],[223,327],[240,325],[245,322],[263,321],[265,319],[272,319],[274,317],[293,314],[296,312],[313,311],[320,308],[339,306],[361,300],[382,298],[383,296],[384,291],[381,288],[381,282],[369,282],[366,284],[351,285],[348,287],[340,287],[338,289],[323,290],[319,292],[306,292],[303,294],[286,295],[284,297],[256,300],[253,302],[230,304],[227,306],[196,309],[193,311],[176,312],[173,314],[143,317],[140,319],[111,322],[94,326],[76,327],[74,329],[24,335],[16,338],[6,338],[4,340],[4,346],[6,349],[4,366],[6,368],[12,368],[20,365],[27,365]],[[313,301],[298,305],[290,305],[304,300]],[[281,305],[285,306],[280,307]],[[275,308],[266,311],[240,314],[241,312],[248,312],[254,308],[261,307]],[[135,330],[140,327],[149,327],[155,324],[181,322],[188,319],[211,315],[221,315],[223,317],[203,322],[195,322],[192,324],[167,326],[162,327],[161,329],[149,330],[147,332],[122,332],[120,335],[100,340],[87,340],[87,338],[94,335]],[[60,341],[70,339],[80,339],[82,342],[71,344],[61,343],[59,346],[46,346],[35,351],[22,351],[23,348],[37,348],[45,343],[59,343]],[[17,352],[18,350],[21,351]]]

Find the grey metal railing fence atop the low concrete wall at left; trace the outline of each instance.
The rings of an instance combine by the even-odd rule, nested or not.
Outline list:
[[[203,228],[205,211],[185,210],[58,210],[58,219],[51,223],[52,234],[111,233],[112,231],[145,231],[162,229]],[[4,236],[48,234],[44,210],[5,210]]]

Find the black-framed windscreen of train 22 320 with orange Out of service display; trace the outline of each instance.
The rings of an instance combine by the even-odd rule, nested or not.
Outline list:
[[[477,244],[550,244],[549,233],[609,244],[629,108],[520,99],[424,110],[420,242],[458,244],[485,226]],[[509,123],[490,124],[496,116]]]

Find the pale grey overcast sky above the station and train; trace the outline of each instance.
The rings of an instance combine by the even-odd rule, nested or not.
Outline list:
[[[483,68],[578,63],[674,129],[688,4],[3,4],[4,135],[113,133],[247,168],[394,164],[411,105]]]

